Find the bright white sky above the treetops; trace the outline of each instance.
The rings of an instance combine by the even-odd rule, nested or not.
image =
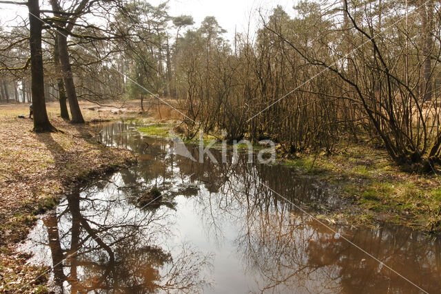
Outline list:
[[[146,1],[155,6],[163,2],[163,0]],[[46,0],[40,2],[48,4]],[[192,15],[196,26],[200,25],[201,21],[207,16],[216,17],[219,25],[227,30],[225,36],[232,41],[234,40],[235,25],[237,26],[237,32],[247,32],[248,23],[250,23],[250,32],[256,30],[256,25],[260,20],[257,12],[258,8],[262,8],[262,13],[268,15],[273,8],[280,5],[288,14],[294,15],[292,7],[297,2],[298,0],[170,0],[169,14],[172,17],[181,14]],[[27,19],[27,8],[0,3],[0,23],[14,19],[17,16]]]

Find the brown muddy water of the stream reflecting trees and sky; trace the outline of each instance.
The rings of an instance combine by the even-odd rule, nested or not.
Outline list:
[[[194,162],[130,123],[104,125],[99,140],[132,149],[138,165],[78,187],[22,246],[30,262],[55,265],[56,293],[440,292],[439,240],[402,227],[325,227],[302,210],[321,213],[338,198],[293,169],[231,152],[225,164]],[[155,186],[163,197],[140,207]]]

